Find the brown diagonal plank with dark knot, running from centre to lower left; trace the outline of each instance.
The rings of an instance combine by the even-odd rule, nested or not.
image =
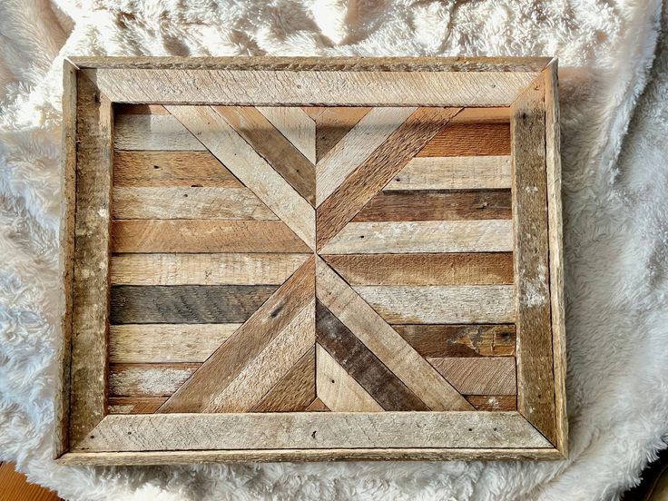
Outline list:
[[[160,412],[198,412],[209,406],[233,378],[313,300],[313,258],[306,261],[260,309],[251,315]]]

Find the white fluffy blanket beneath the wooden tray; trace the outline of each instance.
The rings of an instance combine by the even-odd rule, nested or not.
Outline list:
[[[613,499],[668,437],[660,0],[3,0],[0,460],[73,499]],[[663,17],[665,26],[668,17]],[[61,59],[557,55],[571,456],[555,463],[57,467]]]

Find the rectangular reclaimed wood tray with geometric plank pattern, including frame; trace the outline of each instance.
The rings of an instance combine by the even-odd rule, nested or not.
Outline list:
[[[561,458],[556,61],[64,64],[65,464]]]

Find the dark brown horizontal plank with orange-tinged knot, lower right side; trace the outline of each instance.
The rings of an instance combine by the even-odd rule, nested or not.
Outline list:
[[[423,357],[513,357],[516,334],[512,324],[393,325]]]

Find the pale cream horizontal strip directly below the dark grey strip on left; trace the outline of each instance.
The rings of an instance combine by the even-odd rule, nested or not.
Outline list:
[[[240,323],[113,325],[109,361],[203,362],[240,327]]]

